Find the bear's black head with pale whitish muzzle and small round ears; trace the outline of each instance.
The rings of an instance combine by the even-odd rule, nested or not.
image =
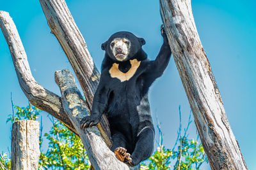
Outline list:
[[[112,60],[122,62],[132,59],[145,43],[145,39],[138,38],[131,32],[120,31],[113,34],[101,48]]]

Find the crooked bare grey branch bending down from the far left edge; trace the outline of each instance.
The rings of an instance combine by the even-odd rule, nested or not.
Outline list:
[[[26,97],[28,97],[30,103],[50,113],[77,134],[76,129],[74,129],[67,114],[63,110],[61,97],[44,89],[33,78],[24,46],[8,12],[0,11],[0,27],[10,49],[20,87]]]

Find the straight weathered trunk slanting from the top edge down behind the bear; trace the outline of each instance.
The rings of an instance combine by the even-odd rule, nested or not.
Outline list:
[[[88,108],[92,109],[93,95],[99,83],[100,73],[93,63],[84,38],[64,0],[40,0],[40,3],[51,32],[60,42],[76,73]],[[97,127],[107,145],[111,146],[111,135],[106,115],[102,116]]]

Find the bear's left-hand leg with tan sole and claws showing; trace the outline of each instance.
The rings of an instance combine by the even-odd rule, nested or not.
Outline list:
[[[126,155],[126,140],[125,136],[120,132],[112,132],[113,145],[111,150],[115,153],[116,158],[122,162],[125,161]]]

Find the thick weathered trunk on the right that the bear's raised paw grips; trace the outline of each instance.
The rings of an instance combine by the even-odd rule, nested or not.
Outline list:
[[[196,31],[191,1],[160,0],[173,59],[212,169],[247,169]]]

